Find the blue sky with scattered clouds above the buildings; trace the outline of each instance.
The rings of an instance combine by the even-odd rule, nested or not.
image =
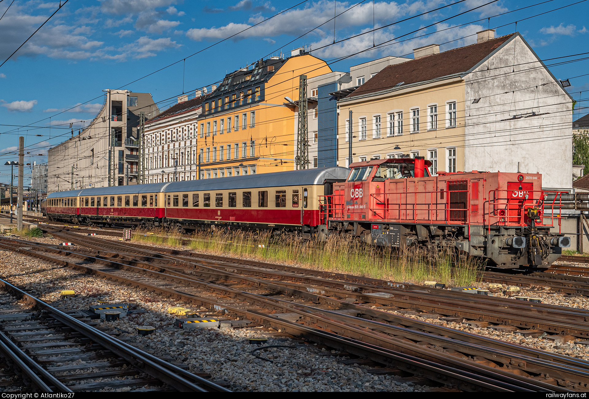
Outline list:
[[[350,65],[381,56],[412,56],[413,48],[432,43],[442,44],[442,51],[472,44],[476,32],[487,26],[497,28],[496,36],[509,34],[515,31],[515,21],[519,21],[517,31],[542,59],[589,51],[587,0],[556,11],[551,10],[578,0],[552,0],[541,5],[535,5],[541,0],[503,0],[436,24],[487,2],[308,1],[297,5],[299,1],[70,0],[0,67],[0,124],[32,126],[0,126],[0,165],[17,158],[14,151],[19,135],[24,135],[25,152],[30,152],[25,163],[47,161],[46,155],[34,154],[47,154],[47,148],[68,137],[67,130],[58,128],[68,127],[70,122],[81,127],[80,121],[94,118],[102,105],[102,89],[150,92],[156,102],[161,102],[160,109],[165,109],[183,91],[194,94],[195,89],[214,84],[227,72],[280,51],[290,54],[302,45],[315,49],[313,55],[332,62],[372,48],[373,41],[377,46],[391,41],[377,50],[331,64],[333,70],[348,71]],[[445,5],[451,6],[428,12]],[[59,2],[42,0],[2,0],[0,16],[9,8],[0,19],[0,62],[58,6]],[[514,11],[526,6],[531,7]],[[335,19],[336,41],[370,31],[373,16],[378,28],[427,14],[379,29],[374,35],[369,32],[333,44],[334,22],[329,20],[334,7],[336,14],[343,13]],[[435,25],[395,39],[431,24]],[[176,65],[133,82],[177,61]],[[550,69],[558,79],[567,79],[587,73],[588,66],[589,60],[581,60]],[[588,98],[578,92],[589,91],[589,76],[571,79],[571,84],[569,91],[575,99]],[[587,106],[586,101],[579,104]],[[581,108],[574,119],[586,113]],[[0,168],[0,181],[8,182],[9,168]]]

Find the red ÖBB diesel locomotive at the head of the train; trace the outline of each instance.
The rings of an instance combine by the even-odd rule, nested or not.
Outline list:
[[[543,191],[542,175],[431,176],[429,166],[422,157],[351,164],[348,179],[323,201],[326,230],[375,245],[455,246],[502,268],[548,265],[570,247],[560,232],[562,195]],[[558,232],[551,232],[555,224]]]

